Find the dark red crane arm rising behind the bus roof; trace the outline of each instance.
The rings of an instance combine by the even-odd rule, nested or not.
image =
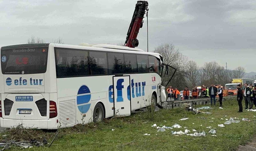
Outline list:
[[[137,36],[139,33],[139,29],[142,28],[144,14],[146,10],[148,10],[148,5],[149,4],[147,1],[137,1],[130,27],[127,32],[125,46],[130,48],[138,47],[139,41],[137,40]]]

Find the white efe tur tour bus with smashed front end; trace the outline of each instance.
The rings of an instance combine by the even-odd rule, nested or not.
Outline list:
[[[124,46],[2,47],[1,127],[58,129],[129,116],[166,101],[163,67],[168,74],[160,54]]]

